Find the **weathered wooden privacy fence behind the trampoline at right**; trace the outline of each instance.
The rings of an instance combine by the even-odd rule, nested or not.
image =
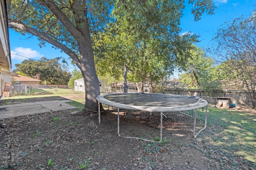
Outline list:
[[[254,100],[250,99],[250,94],[242,90],[199,90],[187,88],[166,88],[161,93],[180,94],[188,96],[199,96],[209,104],[216,105],[217,98],[231,98],[231,103],[237,106],[252,106]]]

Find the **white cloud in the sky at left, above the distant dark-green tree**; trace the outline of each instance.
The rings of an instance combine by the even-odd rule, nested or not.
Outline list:
[[[30,48],[16,47],[14,51],[11,51],[12,59],[18,59],[21,61],[26,59],[41,58],[43,56],[44,55],[41,55],[38,51]]]

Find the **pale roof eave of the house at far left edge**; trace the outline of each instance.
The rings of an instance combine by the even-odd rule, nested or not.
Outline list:
[[[0,71],[12,69],[6,0],[0,1]]]

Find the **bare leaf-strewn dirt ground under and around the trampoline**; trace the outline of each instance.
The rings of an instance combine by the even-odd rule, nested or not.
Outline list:
[[[61,99],[63,98],[34,98],[25,102]],[[206,144],[200,140],[200,136],[196,139],[192,137],[193,121],[192,117],[181,113],[168,114],[163,118],[163,142],[153,143],[119,137],[115,110],[101,114],[101,125],[98,124],[97,113],[81,115],[78,110],[5,119],[0,121],[0,168],[230,169],[230,164],[225,167],[217,166],[216,160],[210,159],[198,149],[204,148]],[[158,140],[159,127],[159,113],[120,112],[121,136]]]

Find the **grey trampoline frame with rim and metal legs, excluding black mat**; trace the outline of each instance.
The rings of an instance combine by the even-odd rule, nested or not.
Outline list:
[[[130,110],[140,110],[140,111],[148,111],[148,109],[143,109],[143,108],[134,108],[134,107],[130,107],[125,104],[121,104],[121,106],[115,106],[114,104],[116,102],[111,102],[109,100],[104,100],[104,96],[108,96],[108,95],[115,95],[115,94],[124,94],[124,93],[111,93],[111,94],[103,94],[103,95],[99,95],[97,96],[97,100],[98,100],[98,119],[99,119],[99,125],[100,125],[100,103],[102,104],[106,104],[108,106],[113,106],[113,107],[116,107],[118,109],[118,117],[117,117],[117,132],[118,132],[118,136],[119,137],[124,137],[124,138],[129,138],[129,139],[139,139],[139,140],[144,140],[144,141],[150,141],[150,142],[157,142],[157,143],[160,143],[162,141],[162,126],[163,126],[163,111],[155,111],[155,112],[160,112],[160,141],[152,141],[152,140],[148,140],[148,139],[141,139],[141,138],[138,138],[138,137],[126,137],[126,136],[121,136],[120,135],[120,118],[119,118],[119,112],[120,112],[120,108],[121,109],[130,109]],[[140,94],[140,93],[129,93],[129,94]],[[146,94],[147,95],[147,94]],[[159,95],[159,94],[152,94],[152,95]],[[170,94],[170,96],[172,96],[172,94]],[[183,96],[183,95],[175,95],[175,96]],[[194,114],[194,125],[193,125],[193,137],[196,138],[199,133],[201,133],[205,128],[206,128],[206,124],[207,124],[207,110],[208,110],[208,103],[206,102],[206,100],[203,100],[202,98],[199,98],[197,96],[188,96],[188,97],[191,97],[191,98],[196,98],[198,101],[200,100],[200,102],[204,103],[201,107],[196,107],[196,106],[190,106],[190,107],[186,107],[184,108],[183,110],[180,109],[180,107],[177,107],[177,106],[174,106],[174,107],[170,107],[170,108],[178,108],[177,110],[175,111],[180,111],[180,113],[182,113],[181,111],[188,111],[188,110],[193,110],[195,109],[195,114]],[[194,105],[194,104],[192,104]],[[206,107],[206,111],[205,111],[205,121],[204,121],[204,127],[202,129],[200,129],[197,133],[196,133],[196,117],[198,115],[197,111],[199,108],[203,108],[203,107]],[[190,108],[190,109],[189,109]],[[168,112],[169,113],[169,112]],[[167,114],[168,114],[167,113]],[[167,115],[166,114],[166,115]],[[182,113],[182,114],[185,114],[185,113]],[[164,115],[164,116],[166,116]],[[187,115],[187,114],[185,114]]]

